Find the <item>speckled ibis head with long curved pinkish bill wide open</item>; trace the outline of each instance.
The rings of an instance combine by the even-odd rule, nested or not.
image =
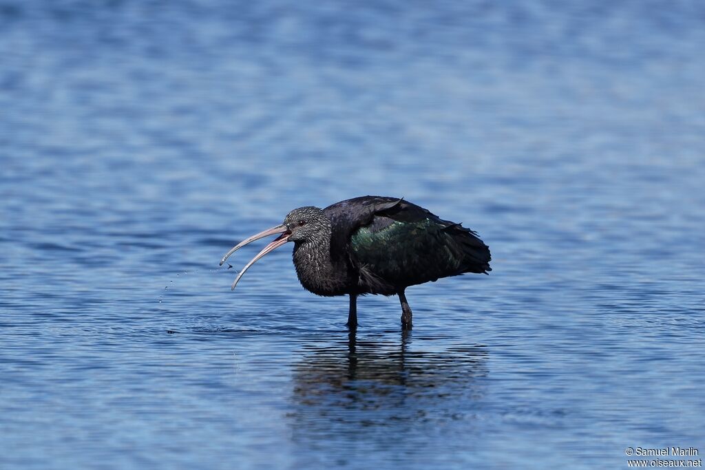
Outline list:
[[[235,245],[229,252],[223,256],[220,265],[223,266],[226,259],[235,253],[238,249],[244,247],[248,243],[252,243],[260,238],[267,237],[269,235],[280,234],[274,240],[272,240],[269,245],[264,247],[261,252],[257,254],[254,258],[250,260],[249,263],[245,265],[242,271],[238,273],[238,277],[235,278],[232,288],[238,285],[240,278],[243,277],[245,271],[250,268],[253,264],[257,262],[258,259],[262,258],[265,254],[273,252],[278,247],[281,247],[286,242],[306,242],[308,240],[316,240],[326,233],[326,229],[330,228],[331,221],[326,217],[324,212],[318,207],[305,206],[294,209],[284,218],[284,222],[281,225],[276,225],[276,227],[268,228],[260,233],[252,235],[252,237],[247,237],[242,242]]]

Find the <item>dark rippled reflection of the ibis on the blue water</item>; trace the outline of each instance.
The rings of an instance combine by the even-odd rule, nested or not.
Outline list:
[[[410,331],[362,339],[352,331],[347,340],[306,349],[294,366],[289,414],[299,436],[359,440],[361,426],[372,438],[369,426],[472,420],[486,388],[489,353],[482,345],[412,339]]]

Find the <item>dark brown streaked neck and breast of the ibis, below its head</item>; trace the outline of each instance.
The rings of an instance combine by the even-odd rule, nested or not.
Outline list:
[[[317,295],[342,295],[348,292],[350,268],[342,257],[331,254],[331,227],[319,237],[297,242],[293,261],[301,285]]]

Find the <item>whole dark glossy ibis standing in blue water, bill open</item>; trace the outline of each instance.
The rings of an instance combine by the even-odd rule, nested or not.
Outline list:
[[[294,242],[294,266],[306,290],[350,296],[349,328],[357,326],[358,295],[398,295],[402,328],[410,329],[407,287],[492,270],[489,247],[472,230],[403,199],[379,196],[347,199],[326,209],[294,209],[281,225],[235,245],[223,256],[221,266],[240,247],[275,234],[281,235],[245,265],[233,289],[255,261]]]

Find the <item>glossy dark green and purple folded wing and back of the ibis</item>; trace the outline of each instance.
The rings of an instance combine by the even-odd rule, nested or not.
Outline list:
[[[360,197],[324,211],[335,228],[331,255],[348,258],[367,292],[391,295],[429,280],[491,271],[489,248],[477,234],[403,199]]]

